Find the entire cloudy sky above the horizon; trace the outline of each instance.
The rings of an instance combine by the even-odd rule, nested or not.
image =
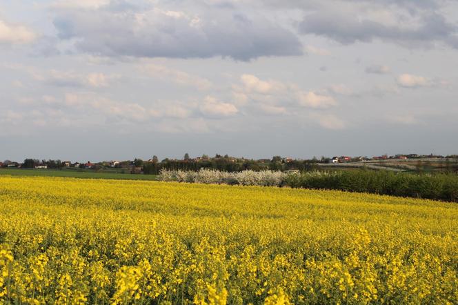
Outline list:
[[[3,0],[0,159],[458,153],[458,1]]]

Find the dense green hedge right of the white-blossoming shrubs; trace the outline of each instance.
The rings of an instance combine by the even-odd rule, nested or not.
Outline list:
[[[455,174],[412,175],[354,170],[328,175],[288,175],[285,182],[292,188],[345,190],[458,202],[458,175]]]

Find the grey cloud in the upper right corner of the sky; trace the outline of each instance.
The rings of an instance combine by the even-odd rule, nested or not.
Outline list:
[[[299,23],[299,32],[313,34],[350,44],[375,39],[397,43],[407,47],[431,46],[441,42],[456,48],[458,26],[439,14],[437,1],[349,1],[347,10],[319,9],[306,14]],[[362,3],[362,4],[361,4]],[[426,9],[430,8],[430,9]],[[396,23],[371,18],[367,12],[390,14]]]

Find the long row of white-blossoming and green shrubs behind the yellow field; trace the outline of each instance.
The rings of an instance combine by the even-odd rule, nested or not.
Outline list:
[[[242,186],[287,185],[292,188],[344,190],[347,192],[458,201],[458,176],[454,174],[413,175],[374,170],[316,171],[301,174],[272,170],[261,172],[243,170],[239,173],[227,173],[219,170],[201,169],[197,172],[162,170],[159,179],[162,181]]]

